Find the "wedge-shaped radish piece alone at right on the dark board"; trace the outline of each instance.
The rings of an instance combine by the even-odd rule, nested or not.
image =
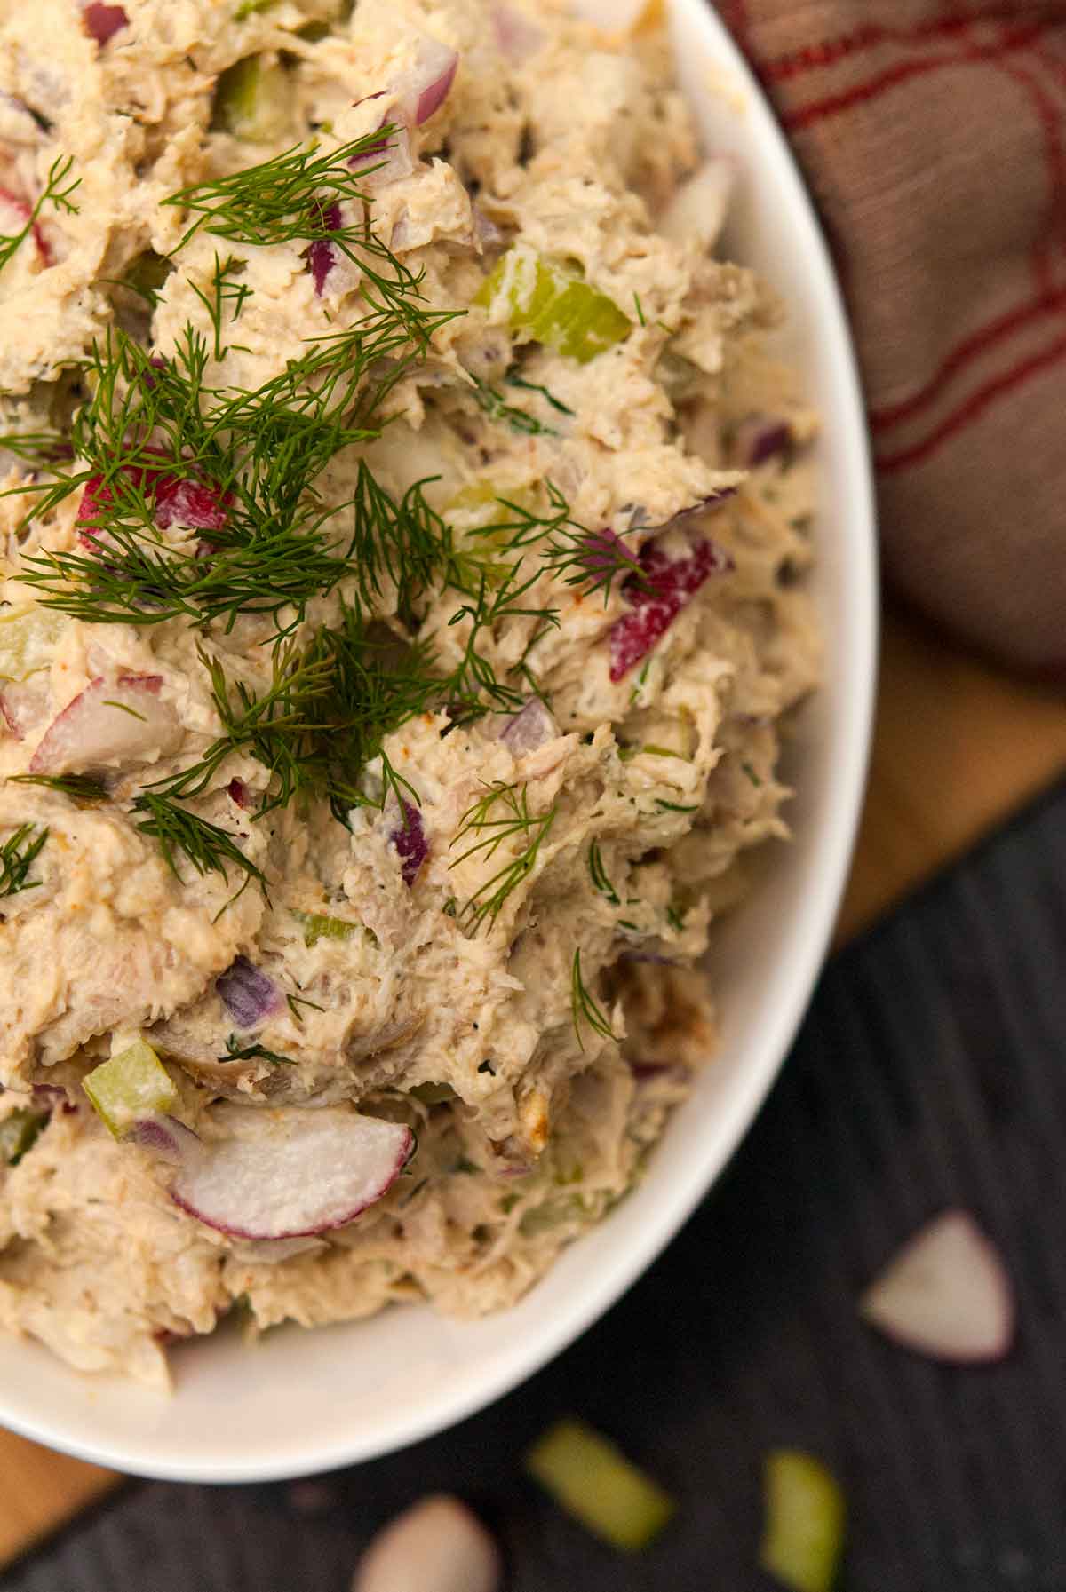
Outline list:
[[[1013,1344],[1013,1288],[1002,1258],[966,1210],[945,1210],[910,1239],[859,1301],[872,1326],[956,1364],[1002,1360]]]

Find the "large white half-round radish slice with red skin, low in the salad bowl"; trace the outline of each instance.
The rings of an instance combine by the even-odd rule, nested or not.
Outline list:
[[[237,1239],[343,1227],[392,1188],[414,1153],[410,1127],[347,1106],[221,1105],[214,1121],[229,1137],[182,1146],[170,1199]]]

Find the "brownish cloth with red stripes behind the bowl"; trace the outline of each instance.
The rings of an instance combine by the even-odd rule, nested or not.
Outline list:
[[[1066,681],[1066,0],[720,0],[848,293],[884,564]]]

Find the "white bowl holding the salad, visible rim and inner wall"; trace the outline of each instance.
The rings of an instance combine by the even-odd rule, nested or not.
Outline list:
[[[867,435],[837,282],[792,156],[706,0],[671,0],[682,83],[709,150],[739,159],[728,253],[784,295],[792,353],[824,416],[817,597],[827,685],[792,753],[795,842],[711,952],[723,1041],[671,1121],[647,1178],[515,1309],[473,1325],[424,1307],[351,1326],[233,1333],[175,1353],[167,1401],[80,1377],[0,1339],[0,1422],[142,1476],[263,1481],[351,1465],[425,1438],[566,1348],[658,1254],[743,1138],[811,995],[862,799],[875,678],[876,573]]]

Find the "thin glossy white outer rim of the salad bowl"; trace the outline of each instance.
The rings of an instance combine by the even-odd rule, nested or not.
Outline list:
[[[194,1466],[190,1466],[180,1458],[170,1460],[166,1455],[151,1452],[150,1436],[145,1439],[142,1449],[134,1452],[129,1446],[108,1438],[100,1438],[99,1441],[72,1439],[59,1422],[48,1418],[37,1420],[24,1412],[6,1414],[2,1409],[3,1391],[0,1390],[0,1422],[21,1436],[72,1453],[76,1458],[139,1476],[161,1481],[218,1484],[263,1482],[308,1476],[317,1471],[354,1465],[362,1460],[379,1458],[408,1444],[430,1438],[494,1403],[516,1383],[535,1374],[633,1286],[719,1178],[723,1165],[751,1127],[784,1063],[829,947],[848,877],[865,790],[878,646],[873,474],[862,388],[840,287],[824,234],[792,151],[751,68],[727,33],[717,13],[714,13],[706,0],[671,0],[671,13],[682,18],[687,27],[703,29],[709,37],[714,37],[715,57],[728,62],[730,73],[738,80],[741,92],[749,100],[747,115],[757,124],[754,142],[762,146],[765,158],[776,166],[774,181],[781,185],[782,199],[792,210],[798,250],[805,259],[805,269],[809,272],[822,301],[821,330],[829,341],[833,380],[840,392],[840,411],[837,416],[838,441],[843,455],[849,462],[849,476],[856,494],[849,501],[849,535],[852,544],[848,554],[848,591],[849,602],[852,603],[854,634],[854,650],[849,654],[852,683],[845,696],[843,718],[835,728],[833,739],[838,743],[837,751],[841,761],[837,766],[837,780],[819,823],[819,828],[824,831],[821,869],[798,909],[803,933],[798,936],[800,949],[792,958],[787,993],[778,1001],[773,1011],[766,1013],[765,1027],[760,1032],[757,1065],[747,1075],[746,1089],[736,1091],[730,1102],[727,1121],[719,1124],[717,1137],[723,1146],[722,1153],[690,1167],[676,1169],[677,1175],[661,1191],[655,1219],[645,1221],[642,1227],[633,1232],[625,1264],[613,1269],[604,1267],[593,1285],[583,1288],[574,1297],[572,1307],[555,1321],[551,1329],[539,1337],[535,1345],[521,1342],[510,1352],[497,1355],[491,1375],[467,1377],[465,1383],[460,1382],[457,1388],[441,1393],[432,1404],[427,1403],[416,1414],[397,1420],[384,1441],[381,1431],[347,1431],[338,1434],[335,1441],[319,1441],[312,1447],[301,1449],[300,1442],[293,1442],[292,1436],[288,1436],[284,1442],[277,1444],[276,1450],[263,1452],[252,1460],[244,1458],[234,1463],[221,1457],[218,1461],[198,1461]]]

